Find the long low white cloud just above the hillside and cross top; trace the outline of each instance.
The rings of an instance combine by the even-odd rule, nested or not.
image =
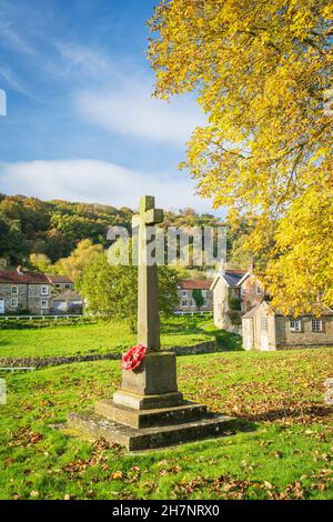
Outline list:
[[[211,211],[208,200],[194,194],[185,174],[147,174],[97,160],[0,163],[0,192],[43,200],[97,202],[137,208],[139,197],[152,194],[164,209],[195,208]]]

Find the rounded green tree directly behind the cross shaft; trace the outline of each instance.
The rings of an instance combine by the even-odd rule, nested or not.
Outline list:
[[[114,247],[117,248],[117,247]],[[178,303],[178,274],[159,268],[160,311],[171,315]],[[111,265],[107,252],[99,253],[85,268],[80,291],[89,311],[109,319],[128,320],[135,331],[138,318],[138,267]]]

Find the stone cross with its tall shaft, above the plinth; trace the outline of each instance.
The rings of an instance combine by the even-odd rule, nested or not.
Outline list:
[[[139,211],[133,215],[133,227],[139,227],[138,343],[157,351],[160,350],[158,264],[148,245],[155,238],[155,225],[163,221],[163,211],[155,209],[152,195],[140,198]]]

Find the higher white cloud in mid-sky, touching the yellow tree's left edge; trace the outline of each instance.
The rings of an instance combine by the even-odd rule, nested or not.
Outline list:
[[[189,97],[165,102],[152,98],[152,82],[135,74],[110,80],[110,90],[85,90],[74,98],[79,114],[113,134],[183,147],[204,116]]]

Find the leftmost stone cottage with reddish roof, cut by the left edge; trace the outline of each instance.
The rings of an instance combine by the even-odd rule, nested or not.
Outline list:
[[[0,314],[27,311],[42,315],[51,308],[52,284],[43,273],[23,271],[0,272]]]

